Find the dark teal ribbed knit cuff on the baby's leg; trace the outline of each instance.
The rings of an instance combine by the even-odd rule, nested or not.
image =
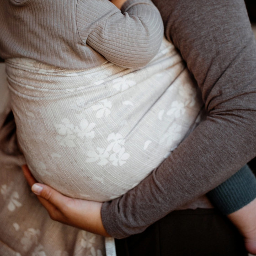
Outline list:
[[[233,213],[256,198],[256,177],[245,165],[207,196],[222,213]]]

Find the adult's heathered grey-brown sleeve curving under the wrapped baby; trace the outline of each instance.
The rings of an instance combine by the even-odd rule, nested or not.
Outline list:
[[[256,156],[256,41],[243,0],[154,0],[202,91],[207,118],[130,192],[104,203],[107,233],[142,232]]]

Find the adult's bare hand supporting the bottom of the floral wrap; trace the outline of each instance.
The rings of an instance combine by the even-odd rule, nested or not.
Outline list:
[[[51,219],[103,236],[110,236],[101,221],[102,203],[66,197],[53,188],[37,183],[27,165],[24,176]]]

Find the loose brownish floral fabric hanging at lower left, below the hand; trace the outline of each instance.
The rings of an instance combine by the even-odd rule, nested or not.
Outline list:
[[[0,255],[104,256],[104,238],[51,220],[25,181],[0,64]]]

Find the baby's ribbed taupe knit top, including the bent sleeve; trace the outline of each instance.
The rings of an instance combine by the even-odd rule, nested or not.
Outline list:
[[[106,63],[139,69],[158,52],[159,11],[150,0],[0,1],[0,57],[26,57],[66,69]],[[106,60],[107,59],[107,60]]]

